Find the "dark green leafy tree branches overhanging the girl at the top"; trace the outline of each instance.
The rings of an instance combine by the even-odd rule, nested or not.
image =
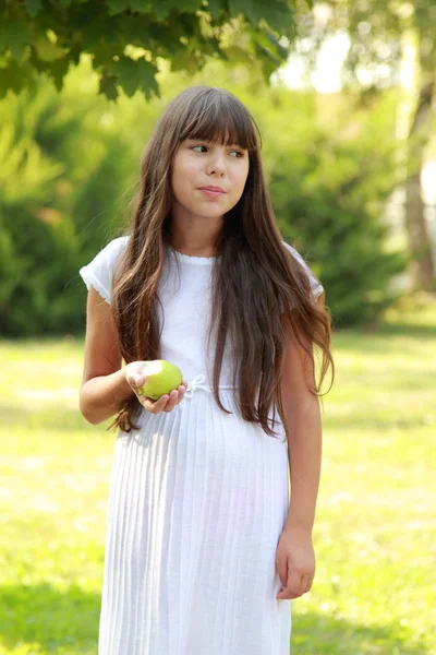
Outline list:
[[[268,79],[288,57],[298,0],[0,0],[0,97],[46,72],[62,88],[92,56],[99,92],[159,95],[159,60],[194,72],[207,57],[259,62]]]

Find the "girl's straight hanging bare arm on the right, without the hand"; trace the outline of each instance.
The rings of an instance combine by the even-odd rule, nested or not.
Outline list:
[[[324,303],[324,293],[318,297]],[[313,358],[289,331],[282,377],[282,398],[288,436],[291,501],[286,527],[312,532],[315,521],[322,463],[322,419],[315,391]]]

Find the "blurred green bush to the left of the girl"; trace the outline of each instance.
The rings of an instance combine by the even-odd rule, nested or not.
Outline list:
[[[80,254],[106,241],[108,212],[120,180],[126,181],[118,156],[125,145],[99,123],[102,109],[94,96],[59,95],[43,79],[35,92],[0,104],[2,334],[83,327],[83,296],[72,293]],[[96,178],[98,211],[77,214],[86,206],[83,190]]]

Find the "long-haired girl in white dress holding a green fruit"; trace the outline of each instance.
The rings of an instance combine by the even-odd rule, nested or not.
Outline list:
[[[315,572],[324,289],[281,239],[256,126],[227,91],[167,106],[141,181],[129,234],[81,269],[81,412],[118,429],[98,652],[288,655]],[[156,359],[183,381],[152,401]]]

